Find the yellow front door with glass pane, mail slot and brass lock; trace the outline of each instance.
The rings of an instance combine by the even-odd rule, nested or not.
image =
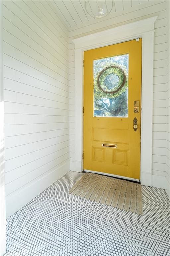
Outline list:
[[[142,39],[84,52],[84,170],[140,179]]]

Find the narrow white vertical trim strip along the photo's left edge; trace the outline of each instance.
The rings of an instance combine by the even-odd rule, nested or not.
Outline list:
[[[2,1],[0,1],[0,256],[6,252],[4,102],[2,56]]]

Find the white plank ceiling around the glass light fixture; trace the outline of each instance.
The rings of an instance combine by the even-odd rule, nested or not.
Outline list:
[[[91,3],[95,1],[89,0]],[[107,3],[110,1],[106,0]],[[111,13],[102,19],[114,17],[117,13],[123,13],[138,6],[141,7],[143,4],[149,4],[149,0],[113,0]],[[86,12],[85,0],[53,0],[52,5],[68,29],[75,26],[80,27],[85,23],[93,23],[96,20]]]

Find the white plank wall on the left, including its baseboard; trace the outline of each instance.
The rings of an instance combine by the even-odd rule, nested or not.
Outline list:
[[[68,30],[51,1],[3,2],[7,217],[69,171]]]

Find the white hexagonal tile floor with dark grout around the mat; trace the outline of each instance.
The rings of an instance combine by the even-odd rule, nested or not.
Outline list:
[[[6,256],[170,256],[170,199],[142,186],[143,215],[68,193],[69,172],[7,219]]]

